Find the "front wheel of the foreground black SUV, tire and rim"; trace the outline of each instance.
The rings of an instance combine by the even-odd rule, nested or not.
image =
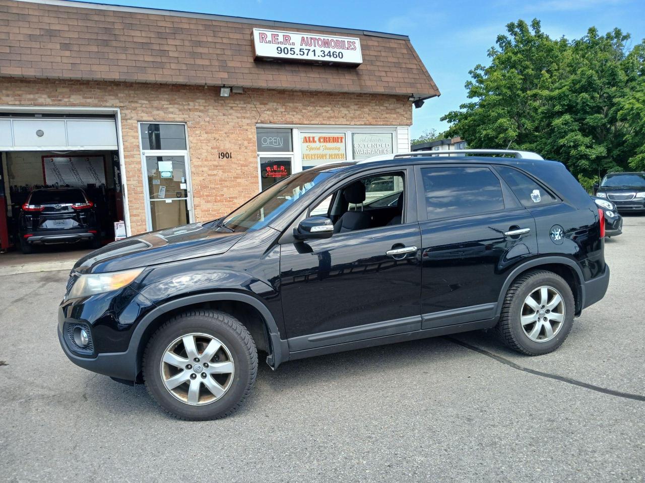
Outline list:
[[[211,343],[221,348],[208,357],[204,354]],[[195,351],[196,359],[190,357]],[[183,370],[175,366],[184,362]],[[154,333],[142,366],[146,388],[161,408],[178,419],[205,421],[230,415],[248,397],[257,375],[257,350],[251,334],[235,317],[217,310],[192,310],[172,317]],[[170,388],[179,381],[184,382]],[[198,389],[193,390],[194,386]]]

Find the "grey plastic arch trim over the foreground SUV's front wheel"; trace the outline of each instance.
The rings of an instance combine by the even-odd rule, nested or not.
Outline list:
[[[288,359],[286,341],[282,341],[277,323],[262,301],[250,294],[240,292],[212,292],[174,299],[154,308],[139,321],[130,339],[128,352],[135,354],[135,374],[141,373],[141,359],[148,340],[165,321],[190,308],[222,310],[240,318],[251,333],[258,348],[268,353],[266,363],[275,369]]]

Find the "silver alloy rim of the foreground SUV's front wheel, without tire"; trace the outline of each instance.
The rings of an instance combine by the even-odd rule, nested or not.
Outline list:
[[[219,339],[192,333],[177,337],[166,347],[159,370],[166,390],[176,399],[203,406],[221,399],[228,391],[235,365]]]

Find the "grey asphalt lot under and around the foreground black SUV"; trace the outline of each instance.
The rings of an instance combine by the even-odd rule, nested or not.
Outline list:
[[[0,481],[615,482],[645,478],[645,216],[556,352],[471,332],[262,364],[232,417],[182,422],[66,359],[66,271],[0,276]]]

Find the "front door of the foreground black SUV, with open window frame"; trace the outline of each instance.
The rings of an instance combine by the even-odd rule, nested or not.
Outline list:
[[[297,220],[283,236],[281,297],[292,352],[421,327],[421,232],[413,169],[397,167],[355,175],[321,194],[308,211],[316,211],[319,202],[343,185],[367,175],[393,172],[404,176],[402,223],[298,242],[289,236]],[[404,253],[392,252],[397,249]]]

